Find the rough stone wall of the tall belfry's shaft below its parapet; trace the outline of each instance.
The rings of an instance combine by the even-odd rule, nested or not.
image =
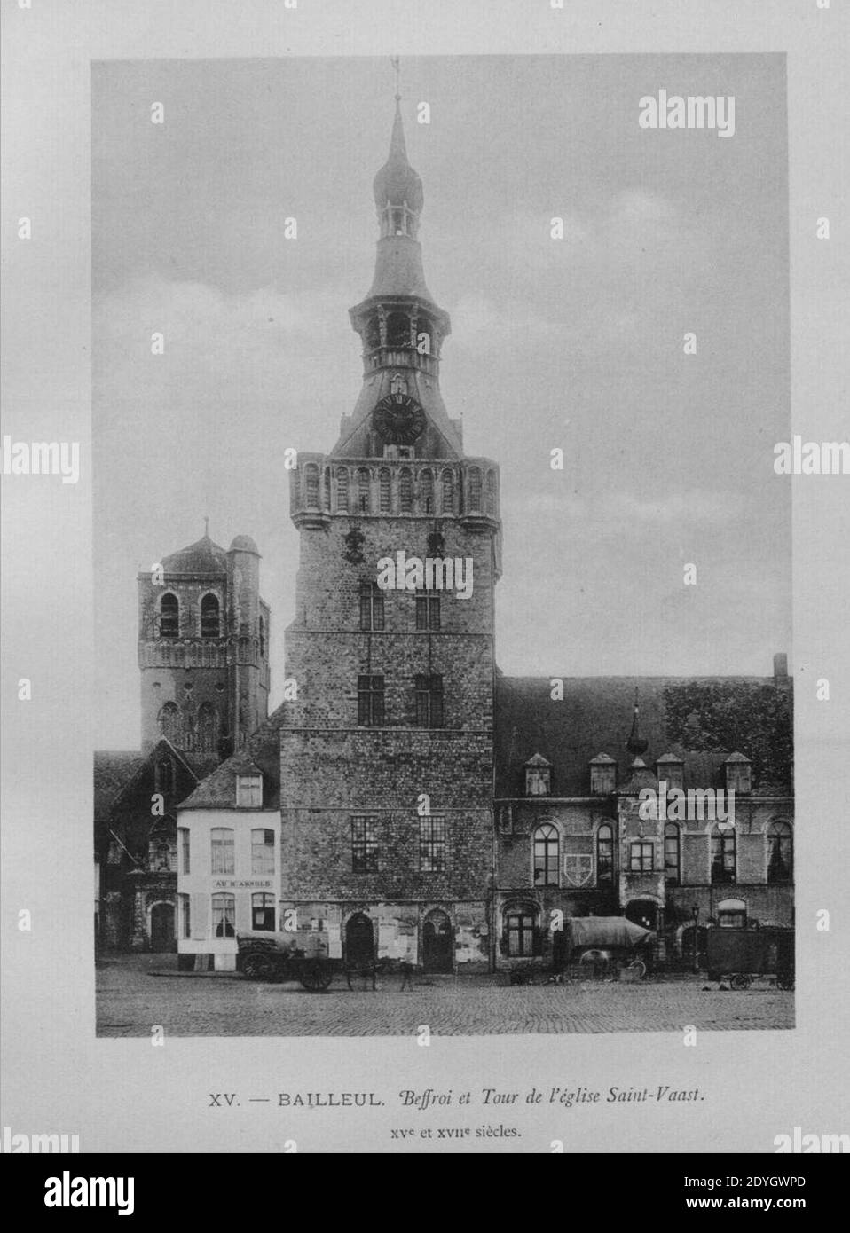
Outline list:
[[[326,465],[334,481],[348,470]],[[299,513],[296,504],[296,520]],[[424,917],[438,909],[452,921],[458,962],[486,963],[496,519],[326,517],[326,525],[301,525],[296,619],[285,635],[285,674],[297,697],[281,727],[284,906],[334,921],[343,951],[348,919],[365,911],[378,922],[376,953],[411,962],[421,958]],[[433,556],[434,535],[440,557],[471,561],[471,597],[432,592],[439,629],[417,629],[417,594],[381,592],[381,628],[361,629],[361,588],[375,586],[378,562],[397,551]],[[382,678],[384,714],[374,725],[359,723],[364,676]],[[416,678],[426,676],[442,678],[439,727],[422,726],[417,714]],[[444,834],[444,852],[424,868],[422,795]],[[355,817],[370,819],[368,869],[354,864]]]

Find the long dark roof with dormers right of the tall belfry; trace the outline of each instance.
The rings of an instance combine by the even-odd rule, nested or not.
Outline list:
[[[587,797],[588,763],[600,753],[617,762],[617,785],[634,761],[627,748],[634,690],[642,755],[654,771],[665,753],[685,763],[686,788],[723,787],[723,762],[734,751],[753,760],[753,790],[791,789],[792,697],[772,677],[561,677],[564,698],[551,699],[550,677],[496,674],[496,795],[524,797],[524,767],[540,753],[551,762],[553,797]]]

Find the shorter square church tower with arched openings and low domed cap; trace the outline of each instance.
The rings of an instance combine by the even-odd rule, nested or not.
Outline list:
[[[160,736],[195,760],[228,757],[269,713],[269,607],[249,535],[205,533],[138,575],[142,751]]]

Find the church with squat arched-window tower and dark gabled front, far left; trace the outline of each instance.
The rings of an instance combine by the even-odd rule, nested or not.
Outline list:
[[[101,949],[176,947],[175,805],[268,715],[259,560],[204,535],[138,575],[142,748],[95,753]]]

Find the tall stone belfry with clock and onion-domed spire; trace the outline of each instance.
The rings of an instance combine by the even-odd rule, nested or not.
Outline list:
[[[439,390],[450,330],[422,269],[422,181],[396,95],[374,181],[371,289],[350,319],[363,387],[329,454],[299,454],[301,538],[281,729],[283,905],[321,922],[329,953],[431,970],[486,967],[493,774],[493,594],[498,469],[466,457]],[[455,559],[472,589],[405,578],[379,561]]]

